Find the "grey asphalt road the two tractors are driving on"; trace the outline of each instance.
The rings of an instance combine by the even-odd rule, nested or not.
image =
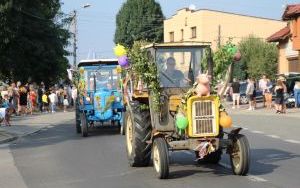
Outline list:
[[[251,168],[244,177],[232,175],[226,155],[220,165],[199,166],[193,154],[175,152],[170,178],[158,180],[152,166],[128,166],[125,137],[115,129],[97,129],[82,138],[73,121],[10,145],[14,172],[28,188],[299,187],[300,119],[251,114],[234,118],[235,124],[247,129],[243,133],[251,145]]]

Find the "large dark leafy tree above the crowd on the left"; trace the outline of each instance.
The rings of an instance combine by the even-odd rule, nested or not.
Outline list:
[[[59,0],[0,3],[0,76],[47,84],[65,76],[69,32]]]

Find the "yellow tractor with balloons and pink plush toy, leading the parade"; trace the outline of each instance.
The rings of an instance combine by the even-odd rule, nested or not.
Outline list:
[[[160,93],[159,101],[154,100],[156,91],[149,89],[134,72],[124,80],[124,127],[130,166],[147,166],[152,159],[158,178],[166,179],[171,151],[194,151],[201,163],[218,163],[226,152],[234,174],[248,173],[248,140],[239,133],[241,128],[232,127],[219,97],[190,92],[201,73],[201,60],[207,48],[210,49],[210,43],[202,42],[144,47],[156,67]],[[160,104],[159,109],[156,103]]]

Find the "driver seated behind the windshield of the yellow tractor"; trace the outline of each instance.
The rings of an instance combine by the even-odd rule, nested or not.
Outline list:
[[[179,87],[182,85],[184,75],[180,70],[175,68],[176,62],[173,57],[169,57],[166,62],[167,68],[162,73],[162,84],[164,87]]]

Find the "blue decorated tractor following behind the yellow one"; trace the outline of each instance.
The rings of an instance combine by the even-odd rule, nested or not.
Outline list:
[[[124,134],[121,73],[116,59],[84,60],[78,65],[76,131],[83,137],[96,126],[117,126]]]

